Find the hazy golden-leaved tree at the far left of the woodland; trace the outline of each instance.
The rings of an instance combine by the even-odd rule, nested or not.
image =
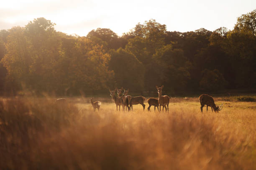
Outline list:
[[[13,27],[9,30],[6,44],[6,54],[1,62],[8,71],[8,90],[16,91],[21,88],[21,83],[29,80],[29,65],[31,64],[28,50],[28,40],[24,35],[24,28]]]

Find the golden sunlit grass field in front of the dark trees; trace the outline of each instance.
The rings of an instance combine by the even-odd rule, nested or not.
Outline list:
[[[100,112],[82,97],[1,98],[0,169],[256,169],[256,102],[238,98],[203,114],[197,97],[171,98],[169,112],[119,112],[110,97],[95,98]]]

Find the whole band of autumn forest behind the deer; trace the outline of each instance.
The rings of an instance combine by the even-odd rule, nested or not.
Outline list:
[[[233,30],[170,32],[151,19],[118,36],[97,28],[87,36],[58,32],[36,18],[0,30],[0,95],[108,94],[114,87],[169,94],[251,90],[256,87],[256,10]]]

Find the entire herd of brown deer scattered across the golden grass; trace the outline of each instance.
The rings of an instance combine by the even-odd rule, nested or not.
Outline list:
[[[148,102],[148,111],[150,111],[150,107],[154,106],[154,110],[156,111],[156,107],[157,110],[159,110],[159,112],[161,111],[161,106],[163,107],[163,111],[165,108],[166,112],[169,112],[169,101],[170,101],[170,97],[168,95],[162,95],[162,90],[164,88],[164,85],[162,85],[161,87],[156,86],[157,92],[158,92],[158,98],[148,98],[147,102]],[[115,95],[115,91],[117,91],[117,96]],[[119,106],[119,111],[120,111],[120,106],[122,106],[123,111],[124,110],[133,110],[133,105],[142,105],[143,110],[145,110],[145,100],[146,98],[143,96],[131,96],[128,95],[129,89],[125,90],[122,88],[118,89],[115,88],[115,90],[109,90],[110,92],[110,96],[112,97],[112,99],[115,102],[116,105],[116,110],[118,111],[118,106]],[[123,92],[123,93],[122,93]],[[206,94],[202,94],[199,96],[199,100],[200,100],[200,104],[201,104],[201,112],[203,112],[202,108],[206,105],[206,111],[208,111],[208,106],[211,107],[212,112],[213,110],[215,112],[219,112],[220,110],[222,110],[223,108],[223,103],[219,106],[216,107],[214,100],[212,98],[212,96],[210,95],[206,95]],[[67,98],[60,98],[56,100],[56,103],[64,103],[67,101]],[[100,105],[101,102],[100,101],[93,101],[93,98],[90,99],[90,102],[92,104],[93,110],[95,111],[96,109],[98,109],[98,111],[100,111]]]

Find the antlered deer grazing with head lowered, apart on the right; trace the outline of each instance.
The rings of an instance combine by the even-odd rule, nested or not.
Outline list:
[[[202,94],[202,95],[199,96],[199,100],[200,100],[200,103],[201,103],[201,107],[200,107],[201,112],[203,112],[203,111],[202,111],[202,108],[203,108],[205,105],[206,105],[206,112],[208,111],[208,106],[210,106],[211,108],[213,108],[213,110],[214,110],[215,112],[219,112],[219,111],[222,110],[222,108],[223,108],[223,103],[220,105],[220,107],[219,107],[219,106],[216,107],[216,105],[215,105],[215,103],[214,103],[214,100],[213,100],[212,96],[210,96],[210,95]],[[212,112],[213,112],[213,110],[212,110]]]

